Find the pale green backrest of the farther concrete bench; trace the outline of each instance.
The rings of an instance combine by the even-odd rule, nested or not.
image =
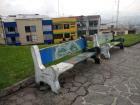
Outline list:
[[[113,39],[113,35],[111,33],[97,35],[97,40],[99,45],[105,44]]]

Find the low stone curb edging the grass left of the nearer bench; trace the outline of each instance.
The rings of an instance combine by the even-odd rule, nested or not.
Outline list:
[[[7,87],[5,89],[0,90],[0,98],[10,95],[22,88],[27,87],[28,85],[32,84],[35,82],[34,76],[28,77],[10,87]]]

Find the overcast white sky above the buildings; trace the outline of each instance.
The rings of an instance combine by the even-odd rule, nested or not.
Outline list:
[[[59,0],[59,16],[115,17],[118,0]],[[0,0],[0,14],[58,15],[58,0]],[[120,0],[120,16],[140,14],[140,0]]]

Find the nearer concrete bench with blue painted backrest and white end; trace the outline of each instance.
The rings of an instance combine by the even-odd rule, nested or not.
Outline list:
[[[51,87],[53,92],[58,93],[60,89],[58,77],[60,74],[90,57],[95,58],[95,61],[97,60],[97,52],[87,52],[86,47],[87,45],[85,38],[79,38],[74,41],[42,49],[39,49],[37,45],[33,45],[31,47],[31,52],[35,68],[36,83],[46,83]],[[50,62],[54,62],[73,54],[76,54],[76,56],[73,56],[60,63],[45,67],[45,65],[49,64]]]

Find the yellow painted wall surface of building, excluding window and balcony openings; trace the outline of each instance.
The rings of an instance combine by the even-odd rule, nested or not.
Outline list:
[[[77,39],[77,19],[75,17],[62,17],[62,18],[53,18],[53,25],[61,25],[62,29],[53,29],[53,34],[63,34],[64,33],[70,33],[70,37],[73,37],[74,39]],[[69,29],[64,29],[64,24],[69,24]],[[61,39],[54,39],[54,43],[60,43],[63,41],[63,38]],[[70,38],[65,38],[66,41],[70,40]]]

